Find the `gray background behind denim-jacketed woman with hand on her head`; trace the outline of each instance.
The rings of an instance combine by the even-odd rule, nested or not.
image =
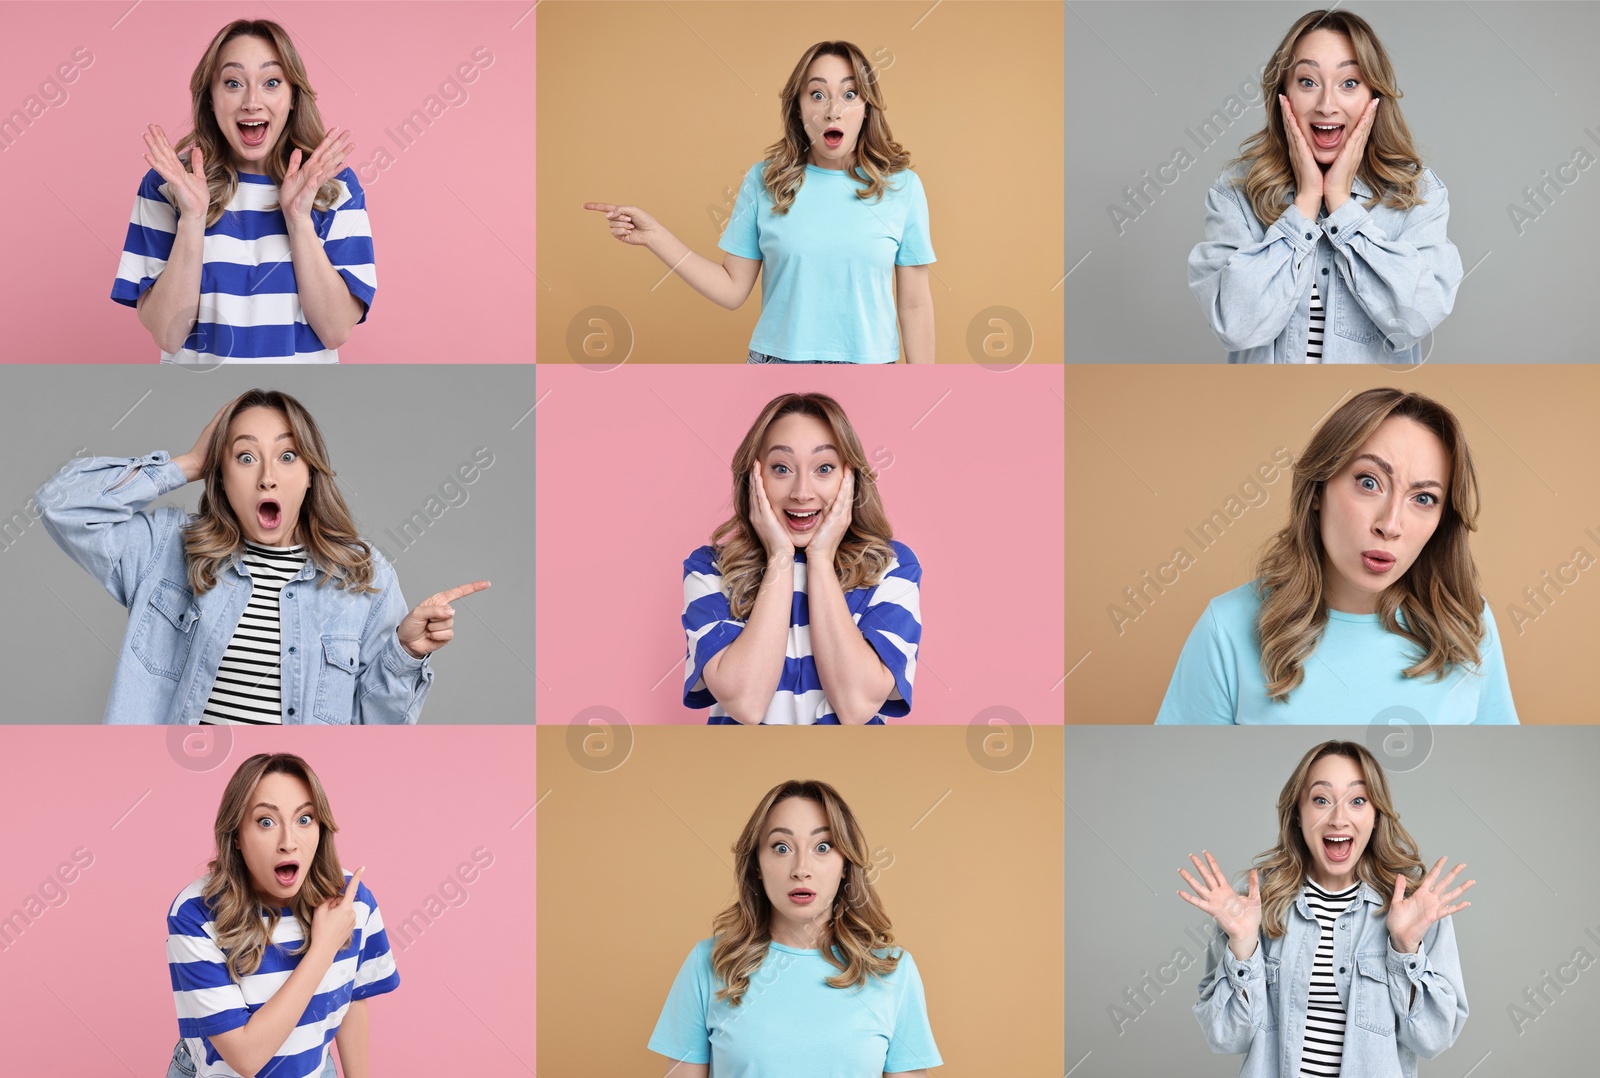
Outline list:
[[[186,453],[251,387],[280,389],[315,416],[355,523],[394,563],[408,606],[493,582],[456,603],[456,638],[432,659],[421,721],[531,723],[534,389],[533,366],[515,365],[0,366],[0,593],[11,605],[0,622],[0,723],[101,721],[128,625],[128,611],[29,517],[34,493],[85,446],[83,456]],[[494,464],[461,485],[456,469],[478,446]],[[466,501],[451,489],[459,505],[414,542],[397,541],[430,497],[448,505],[446,480]],[[200,489],[162,504],[194,512]]]

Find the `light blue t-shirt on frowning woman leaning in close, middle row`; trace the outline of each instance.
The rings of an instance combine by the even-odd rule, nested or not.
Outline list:
[[[1403,723],[1434,726],[1515,723],[1499,630],[1488,603],[1478,667],[1453,667],[1442,680],[1408,678],[1418,648],[1392,633],[1378,614],[1328,611],[1306,680],[1283,704],[1267,697],[1256,641],[1261,597],[1256,584],[1218,595],[1189,633],[1157,713],[1165,723]]]

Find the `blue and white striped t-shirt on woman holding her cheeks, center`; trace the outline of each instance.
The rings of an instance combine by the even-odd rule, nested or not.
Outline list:
[[[901,718],[910,712],[910,683],[917,677],[917,645],[922,640],[922,565],[902,542],[890,541],[894,557],[883,581],[874,587],[858,587],[845,593],[845,605],[878,659],[894,675],[894,691],[870,720]],[[795,550],[795,590],[789,608],[789,646],[778,691],[762,718],[771,726],[837,725],[834,705],[822,694],[811,656],[811,609],[806,597],[805,550]],[[683,705],[709,707],[712,726],[731,726],[736,720],[717,702],[706,686],[706,664],[731,645],[744,622],[734,619],[728,593],[717,569],[717,552],[701,547],[683,561],[683,632],[688,635],[688,661],[683,675]]]

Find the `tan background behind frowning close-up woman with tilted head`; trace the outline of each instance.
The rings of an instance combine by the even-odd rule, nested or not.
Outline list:
[[[1299,453],[1320,417],[1374,385],[1427,393],[1461,419],[1478,467],[1472,552],[1523,723],[1597,720],[1587,678],[1600,643],[1600,369],[1594,366],[1069,366],[1069,723],[1149,723],[1205,605],[1254,577],[1286,520],[1290,475],[1222,539],[1186,536],[1278,446]],[[1258,499],[1259,501],[1259,496]],[[1243,499],[1240,499],[1243,504]],[[1195,563],[1118,635],[1107,608],[1186,547]],[[1536,614],[1523,589],[1582,547],[1597,560]],[[1166,574],[1168,577],[1171,573]],[[1568,573],[1571,576],[1571,571]],[[1150,592],[1154,595],[1154,590]],[[1554,592],[1550,592],[1554,595]],[[1126,603],[1123,601],[1123,606]],[[1131,611],[1131,608],[1130,608]],[[1078,664],[1074,669],[1074,664]]]

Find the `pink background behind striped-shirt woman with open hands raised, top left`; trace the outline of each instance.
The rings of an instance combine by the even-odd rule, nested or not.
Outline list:
[[[235,18],[277,19],[294,38],[317,106],[349,128],[378,259],[371,315],[341,361],[531,363],[534,358],[534,22],[504,3],[6,3],[0,118],[86,46],[93,62],[0,152],[6,211],[10,363],[154,363],[136,313],[110,301],[146,125],[189,131],[189,75]],[[526,18],[522,18],[525,16]],[[118,22],[120,19],[120,22]],[[518,19],[522,19],[518,22]],[[115,27],[114,27],[115,24]],[[515,29],[512,29],[515,24]],[[429,94],[488,48],[467,98],[410,147],[398,131]],[[443,98],[440,98],[443,101]],[[403,141],[403,139],[402,139]],[[386,147],[392,165],[376,158]],[[453,194],[454,192],[454,194]]]

